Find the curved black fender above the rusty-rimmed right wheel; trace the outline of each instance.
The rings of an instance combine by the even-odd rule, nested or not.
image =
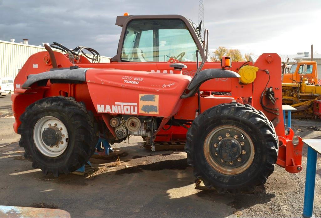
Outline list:
[[[206,69],[203,71],[200,71],[198,74],[196,74],[195,78],[191,81],[191,83],[188,85],[187,90],[190,90],[188,94],[183,93],[181,98],[187,98],[194,96],[198,88],[207,80],[215,79],[215,78],[239,78],[241,77],[237,72],[230,71],[230,70],[224,70],[221,68],[215,68],[215,69]]]

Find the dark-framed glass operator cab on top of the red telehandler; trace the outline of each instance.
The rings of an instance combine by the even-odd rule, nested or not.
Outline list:
[[[123,27],[117,62],[196,62],[196,51],[203,54],[203,44],[192,24],[180,15],[118,16]],[[202,55],[198,60],[202,61]]]

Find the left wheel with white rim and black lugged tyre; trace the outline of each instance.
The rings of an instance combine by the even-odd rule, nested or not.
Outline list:
[[[98,125],[84,104],[72,97],[48,97],[29,105],[20,117],[19,145],[32,167],[45,175],[79,169],[95,152]]]

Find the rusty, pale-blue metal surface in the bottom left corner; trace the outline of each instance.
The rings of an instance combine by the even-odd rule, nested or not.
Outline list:
[[[59,209],[0,205],[0,217],[70,217],[70,214]]]

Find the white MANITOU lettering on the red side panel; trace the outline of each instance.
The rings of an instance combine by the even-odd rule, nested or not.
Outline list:
[[[137,114],[137,103],[115,102],[115,105],[97,105],[97,112]]]

